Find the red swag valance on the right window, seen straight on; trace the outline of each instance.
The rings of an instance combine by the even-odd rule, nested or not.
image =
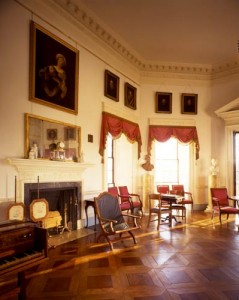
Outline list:
[[[184,126],[149,126],[149,137],[148,137],[148,154],[151,153],[151,147],[153,140],[158,142],[166,142],[171,137],[175,137],[182,143],[194,142],[196,147],[196,159],[199,158],[199,140],[197,135],[197,129],[195,126],[184,127]]]

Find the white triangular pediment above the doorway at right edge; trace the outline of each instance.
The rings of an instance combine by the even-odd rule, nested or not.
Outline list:
[[[226,126],[239,125],[239,98],[217,109],[215,114],[225,121]]]

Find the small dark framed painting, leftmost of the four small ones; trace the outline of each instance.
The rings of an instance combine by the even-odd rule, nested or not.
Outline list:
[[[105,70],[105,96],[119,101],[119,77],[109,70]]]

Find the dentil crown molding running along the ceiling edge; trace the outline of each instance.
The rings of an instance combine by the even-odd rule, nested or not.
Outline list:
[[[129,50],[129,47],[119,41],[119,38],[116,38],[113,33],[103,28],[100,22],[96,21],[94,17],[87,12],[85,7],[79,7],[79,5],[76,5],[72,0],[52,1],[58,4],[64,11],[68,12],[81,26],[83,25],[87,30],[102,40],[105,46],[113,48],[142,72],[199,75],[201,77],[210,77],[210,79],[216,79],[239,72],[239,60],[220,65],[166,64],[163,62],[150,63],[143,61],[137,54],[133,53],[132,50]],[[51,5],[51,1],[48,0],[47,2]]]

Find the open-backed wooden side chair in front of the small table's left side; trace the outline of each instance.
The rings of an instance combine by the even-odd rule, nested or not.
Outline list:
[[[170,209],[164,208],[161,202],[162,200],[160,194],[149,194],[149,218],[147,227],[149,227],[150,222],[158,221],[157,230],[159,230],[162,215],[167,214],[167,218],[164,220],[169,219]],[[155,215],[156,218],[154,217],[152,219],[152,217]]]

